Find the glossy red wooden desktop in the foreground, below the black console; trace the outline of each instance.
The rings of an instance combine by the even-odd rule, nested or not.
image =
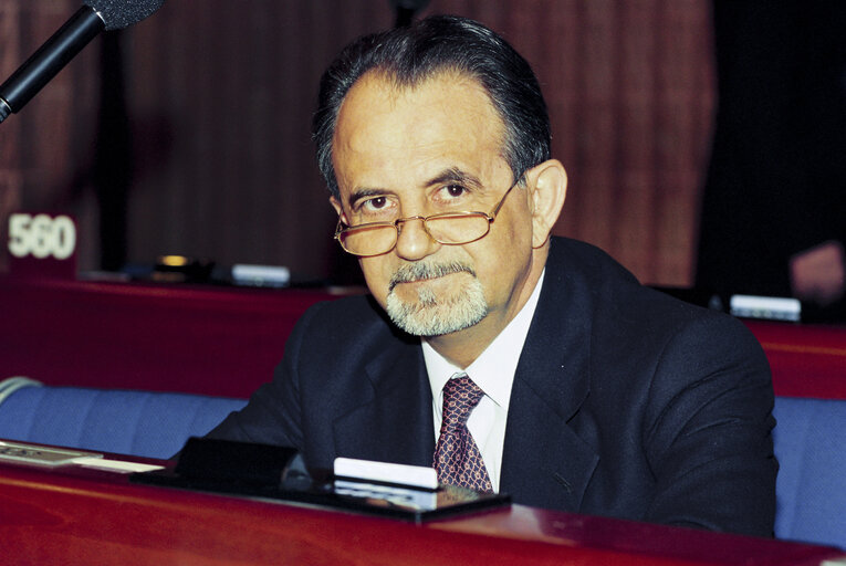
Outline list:
[[[0,464],[0,533],[6,565],[752,566],[817,565],[844,555],[521,505],[417,526],[138,485],[125,474],[75,465],[11,463]]]

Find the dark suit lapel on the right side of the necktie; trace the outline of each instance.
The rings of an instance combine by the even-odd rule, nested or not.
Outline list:
[[[589,394],[591,324],[588,301],[561,268],[551,255],[514,376],[500,491],[522,504],[578,511],[599,460],[571,427]]]

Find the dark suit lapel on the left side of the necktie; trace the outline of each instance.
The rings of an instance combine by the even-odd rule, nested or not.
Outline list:
[[[431,388],[419,344],[389,348],[366,366],[365,374],[368,395],[334,423],[336,453],[431,465]]]

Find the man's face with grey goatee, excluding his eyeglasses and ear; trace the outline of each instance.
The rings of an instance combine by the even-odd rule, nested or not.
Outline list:
[[[333,163],[348,224],[445,211],[491,212],[512,186],[504,125],[484,90],[445,73],[396,90],[358,80],[338,114]],[[528,297],[532,218],[515,187],[481,240],[445,245],[420,220],[400,223],[394,250],[361,259],[367,286],[394,322],[422,336],[495,336]],[[531,292],[531,290],[529,290]]]

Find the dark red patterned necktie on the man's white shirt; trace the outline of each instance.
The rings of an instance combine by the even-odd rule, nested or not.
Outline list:
[[[451,378],[443,386],[443,420],[435,448],[434,465],[440,483],[492,493],[482,454],[467,428],[470,411],[482,395],[479,386],[466,374]]]

